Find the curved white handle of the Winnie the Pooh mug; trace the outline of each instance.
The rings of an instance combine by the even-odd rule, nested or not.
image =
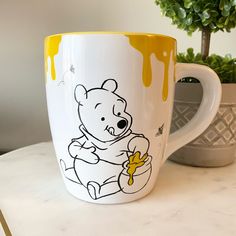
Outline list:
[[[175,81],[184,77],[193,77],[200,81],[203,88],[202,102],[194,117],[185,126],[170,134],[162,164],[173,152],[198,137],[210,125],[220,105],[221,83],[212,69],[198,64],[177,63]]]

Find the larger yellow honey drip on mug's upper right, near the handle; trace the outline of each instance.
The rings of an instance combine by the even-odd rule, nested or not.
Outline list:
[[[151,55],[154,54],[157,60],[164,63],[164,81],[162,88],[162,99],[168,98],[168,78],[171,56],[175,55],[175,40],[168,37],[156,35],[126,35],[132,47],[138,50],[143,56],[142,79],[145,87],[152,84]]]

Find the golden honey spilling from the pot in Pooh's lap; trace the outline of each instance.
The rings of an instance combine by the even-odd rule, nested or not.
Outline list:
[[[137,151],[133,155],[129,156],[129,163],[127,165],[128,166],[127,173],[129,174],[128,185],[132,185],[134,183],[134,173],[138,167],[144,165],[147,157],[148,157],[147,153],[145,153],[141,157],[141,153],[139,151]]]

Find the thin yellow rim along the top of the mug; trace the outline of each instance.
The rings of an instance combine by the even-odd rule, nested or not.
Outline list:
[[[56,36],[64,36],[64,35],[135,35],[135,36],[147,36],[147,37],[161,37],[166,39],[172,39],[177,41],[175,38],[164,35],[164,34],[156,34],[156,33],[144,33],[144,32],[126,32],[126,31],[81,31],[81,32],[66,32],[66,33],[58,33],[52,34],[45,37],[45,40],[56,37]]]

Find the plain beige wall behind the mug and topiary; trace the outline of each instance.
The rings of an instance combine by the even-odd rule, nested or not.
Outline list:
[[[43,40],[69,31],[136,31],[177,38],[179,51],[200,48],[161,16],[154,0],[0,0],[0,151],[50,139]],[[212,36],[211,52],[236,56],[236,30]]]

